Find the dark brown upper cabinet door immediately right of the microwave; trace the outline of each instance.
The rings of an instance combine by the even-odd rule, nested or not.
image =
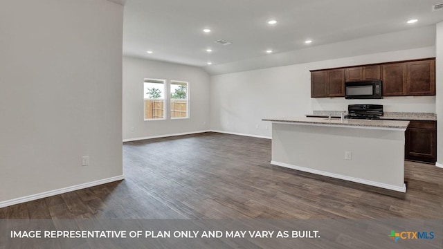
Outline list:
[[[383,96],[406,95],[406,63],[384,64],[383,74]]]

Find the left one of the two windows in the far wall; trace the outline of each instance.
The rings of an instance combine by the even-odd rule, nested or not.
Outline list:
[[[165,119],[165,80],[145,79],[145,120]]]

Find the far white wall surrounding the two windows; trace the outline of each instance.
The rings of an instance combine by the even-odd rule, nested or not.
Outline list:
[[[168,83],[170,80],[189,82],[190,118],[171,120],[167,111],[166,120],[144,121],[144,78],[168,80]],[[124,140],[207,131],[210,127],[209,80],[208,73],[194,66],[123,57]]]

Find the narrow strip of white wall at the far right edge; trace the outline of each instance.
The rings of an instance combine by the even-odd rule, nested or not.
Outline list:
[[[437,113],[437,165],[443,167],[443,22],[437,24],[435,80],[437,81],[437,100],[435,109]]]

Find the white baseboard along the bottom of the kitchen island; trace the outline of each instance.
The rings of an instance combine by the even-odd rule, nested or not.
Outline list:
[[[302,172],[309,172],[312,174],[318,174],[321,176],[329,176],[332,178],[338,178],[341,180],[346,180],[346,181],[352,181],[354,183],[363,183],[365,185],[371,185],[371,186],[375,186],[375,187],[382,187],[384,189],[387,190],[395,190],[398,192],[406,192],[406,185],[404,184],[403,187],[397,186],[397,185],[390,185],[390,184],[386,184],[386,183],[378,183],[378,182],[374,182],[374,181],[368,181],[365,179],[361,179],[361,178],[355,178],[352,176],[343,176],[341,174],[334,174],[334,173],[330,173],[330,172],[323,172],[317,169],[309,169],[306,167],[300,167],[300,166],[296,166],[296,165],[290,165],[287,163],[279,163],[279,162],[275,162],[275,161],[271,161],[271,165],[277,165],[277,166],[281,166],[281,167],[287,167],[289,169],[296,169],[296,170],[300,170]]]

